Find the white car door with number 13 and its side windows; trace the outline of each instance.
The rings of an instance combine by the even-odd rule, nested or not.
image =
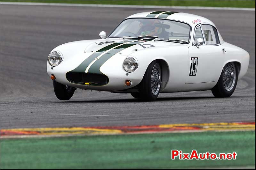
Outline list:
[[[204,40],[200,46],[196,45],[198,38]],[[186,84],[214,82],[220,77],[224,52],[215,27],[206,24],[198,26],[193,45],[188,48],[188,54]]]

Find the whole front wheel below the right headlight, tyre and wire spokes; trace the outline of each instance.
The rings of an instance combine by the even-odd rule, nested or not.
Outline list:
[[[142,81],[140,82],[139,94],[142,100],[156,100],[162,85],[161,65],[157,61],[149,64]]]

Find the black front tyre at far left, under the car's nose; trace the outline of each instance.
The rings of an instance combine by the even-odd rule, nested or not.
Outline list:
[[[67,85],[62,85],[57,81],[53,81],[53,89],[56,97],[59,100],[69,100],[73,96],[76,88]]]

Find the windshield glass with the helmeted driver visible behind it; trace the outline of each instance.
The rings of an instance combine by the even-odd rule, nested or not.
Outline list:
[[[144,37],[165,40],[189,41],[190,26],[188,24],[154,18],[131,18],[124,20],[109,37]]]

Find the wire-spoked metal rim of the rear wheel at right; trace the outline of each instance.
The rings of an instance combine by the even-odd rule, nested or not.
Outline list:
[[[222,71],[223,85],[227,91],[233,89],[236,82],[236,66],[234,63],[227,63]]]

